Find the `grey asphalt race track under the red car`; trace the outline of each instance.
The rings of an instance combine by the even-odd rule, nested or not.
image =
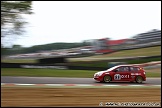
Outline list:
[[[110,82],[100,83],[95,81],[93,78],[66,78],[66,77],[11,77],[1,76],[1,83],[21,83],[21,84],[111,84],[111,85],[122,85],[137,83],[131,82]],[[150,85],[161,85],[161,78],[146,78],[146,81],[142,83]]]

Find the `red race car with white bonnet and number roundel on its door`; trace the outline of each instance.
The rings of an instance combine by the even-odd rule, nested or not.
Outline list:
[[[94,79],[100,82],[130,81],[142,83],[146,81],[145,70],[140,66],[118,65],[94,74]]]

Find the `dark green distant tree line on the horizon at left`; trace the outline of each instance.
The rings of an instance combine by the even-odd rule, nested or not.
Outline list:
[[[25,54],[25,53],[39,53],[41,51],[51,51],[59,49],[70,49],[90,45],[88,42],[80,43],[52,43],[45,45],[35,45],[32,47],[21,47],[20,45],[13,45],[12,48],[1,48],[1,55]]]

